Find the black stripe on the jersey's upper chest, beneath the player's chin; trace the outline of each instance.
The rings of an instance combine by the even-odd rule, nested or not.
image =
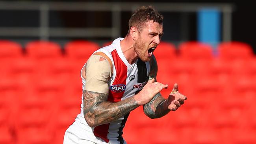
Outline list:
[[[138,68],[137,83],[144,83],[147,80],[147,76],[148,76],[146,63],[141,61],[141,59],[138,59],[137,68]]]

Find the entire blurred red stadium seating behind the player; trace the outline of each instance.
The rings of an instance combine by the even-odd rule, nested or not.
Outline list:
[[[109,42],[107,44],[110,44]],[[0,41],[0,144],[60,144],[80,113],[80,70],[100,46],[90,41]],[[157,80],[174,83],[188,99],[176,112],[150,119],[130,113],[129,144],[255,144],[256,57],[243,42],[210,45],[161,42],[154,55]],[[33,137],[32,137],[33,136]]]

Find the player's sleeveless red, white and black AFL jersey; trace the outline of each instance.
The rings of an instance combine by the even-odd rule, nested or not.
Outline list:
[[[120,41],[123,38],[118,38],[113,41],[109,46],[101,48],[96,52],[103,52],[106,54],[113,63],[113,76],[109,81],[109,102],[119,102],[139,92],[149,75],[149,62],[143,62],[138,59],[134,64],[130,65],[124,57]],[[86,80],[82,77],[83,88]],[[109,124],[103,124],[91,128],[88,126],[83,116],[83,96],[81,104],[81,113],[78,114],[76,121],[72,124],[75,127],[79,137],[91,140],[96,144],[126,144],[122,138],[122,130],[126,123],[129,114],[122,116],[118,120]]]

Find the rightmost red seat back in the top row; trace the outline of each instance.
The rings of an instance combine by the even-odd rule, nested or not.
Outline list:
[[[223,42],[218,46],[219,55],[222,59],[250,59],[253,57],[252,47],[243,42]]]

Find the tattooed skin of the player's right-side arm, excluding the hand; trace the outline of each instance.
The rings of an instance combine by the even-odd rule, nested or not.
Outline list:
[[[149,80],[152,78],[156,79],[157,75],[157,63],[155,57],[152,57],[150,61],[150,76]],[[150,102],[144,105],[144,113],[150,118],[160,118],[165,114],[169,113],[170,110],[164,109],[163,102],[165,99],[161,96],[160,93],[156,94]]]

